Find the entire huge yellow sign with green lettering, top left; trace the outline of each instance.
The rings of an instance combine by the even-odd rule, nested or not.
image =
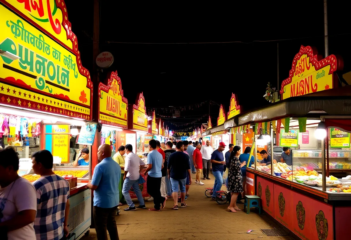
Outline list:
[[[64,1],[0,3],[0,49],[20,58],[1,55],[0,103],[91,120],[93,84]]]

